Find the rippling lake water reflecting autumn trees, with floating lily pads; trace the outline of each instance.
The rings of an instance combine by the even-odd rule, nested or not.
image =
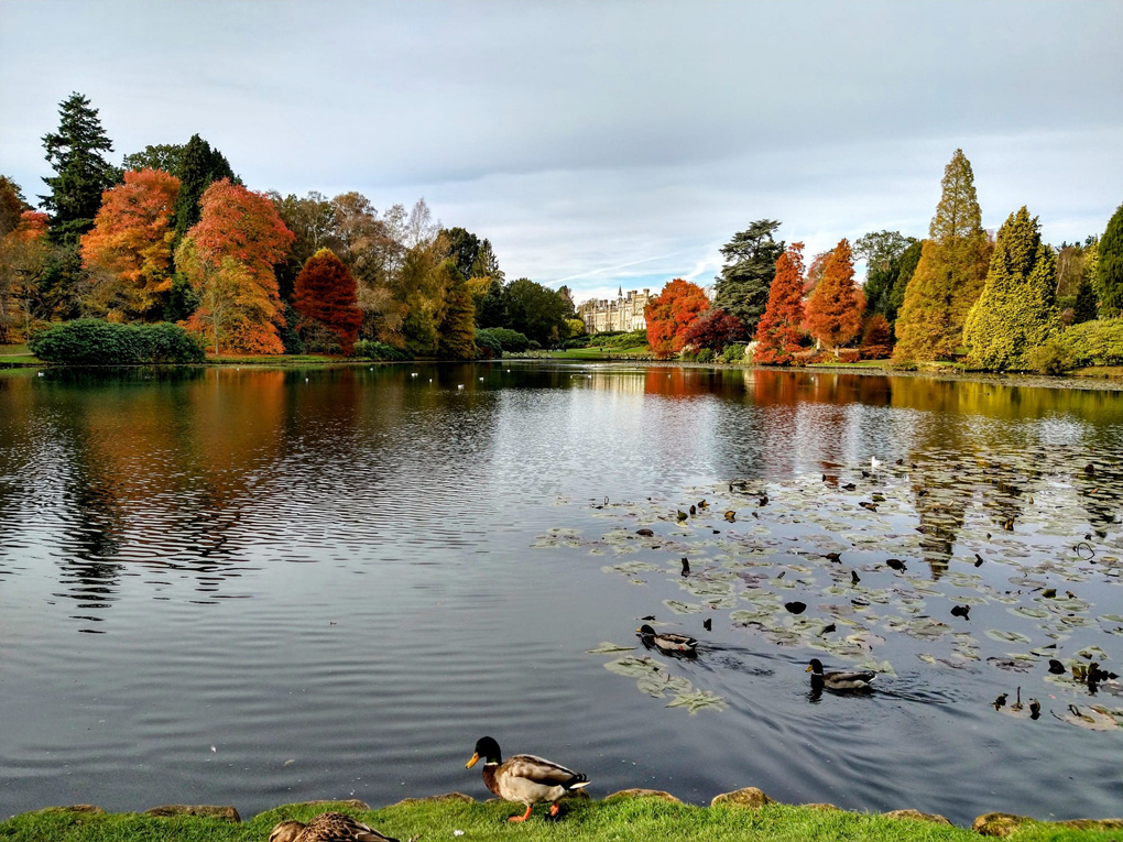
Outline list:
[[[491,734],[594,796],[1119,815],[1123,688],[1070,669],[1123,672],[1121,520],[1117,392],[0,372],[0,814],[483,797]],[[812,657],[878,690],[811,692]],[[1016,687],[1039,719],[992,706]]]

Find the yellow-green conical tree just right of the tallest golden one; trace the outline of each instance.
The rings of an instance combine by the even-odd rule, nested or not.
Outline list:
[[[993,370],[1034,367],[1034,353],[1059,327],[1056,283],[1057,256],[1023,205],[998,229],[983,294],[964,328],[971,363]]]

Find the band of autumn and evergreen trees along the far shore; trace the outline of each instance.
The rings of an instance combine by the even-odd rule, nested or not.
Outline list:
[[[445,228],[423,199],[378,212],[358,192],[252,191],[199,135],[115,166],[79,93],[43,141],[55,172],[43,210],[0,175],[0,344],[93,318],[173,322],[214,354],[353,354],[360,342],[374,358],[475,359],[501,354],[512,331],[519,349],[586,332],[567,287],[508,282],[489,239]],[[1123,359],[1123,205],[1079,244],[1044,244],[1025,208],[992,236],[957,149],[923,240],[874,231],[805,267],[779,227],[757,220],[722,247],[712,302],[681,278],[652,298],[657,356],[733,361],[756,340],[754,360],[778,365],[823,354],[992,369]]]

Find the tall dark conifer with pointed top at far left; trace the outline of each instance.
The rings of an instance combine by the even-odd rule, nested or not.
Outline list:
[[[113,145],[89,99],[72,93],[60,104],[58,116],[58,131],[43,136],[55,175],[43,180],[51,192],[39,199],[51,212],[51,240],[73,244],[93,228],[101,193],[118,181],[120,171],[102,156]]]

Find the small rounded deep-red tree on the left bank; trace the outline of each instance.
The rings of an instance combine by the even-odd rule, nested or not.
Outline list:
[[[308,258],[296,275],[292,305],[303,317],[300,330],[305,345],[311,335],[327,330],[344,354],[350,354],[363,323],[363,311],[355,298],[356,284],[350,269],[328,248]]]

